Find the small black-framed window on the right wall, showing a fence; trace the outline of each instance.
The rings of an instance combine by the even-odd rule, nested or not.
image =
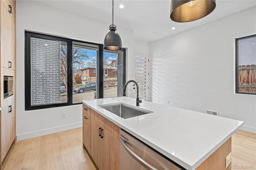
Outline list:
[[[256,95],[256,35],[236,39],[236,93]]]

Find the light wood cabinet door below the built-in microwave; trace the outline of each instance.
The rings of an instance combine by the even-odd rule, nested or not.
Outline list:
[[[1,111],[1,162],[15,139],[15,103]]]

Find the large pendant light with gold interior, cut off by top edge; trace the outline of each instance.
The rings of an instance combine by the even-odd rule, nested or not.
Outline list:
[[[190,22],[210,14],[216,0],[171,0],[170,18],[175,22]]]

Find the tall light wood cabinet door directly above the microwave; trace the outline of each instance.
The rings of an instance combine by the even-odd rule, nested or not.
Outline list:
[[[15,69],[15,22],[1,1],[1,66]]]

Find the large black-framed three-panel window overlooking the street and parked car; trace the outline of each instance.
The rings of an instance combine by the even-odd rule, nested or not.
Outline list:
[[[25,41],[26,110],[122,96],[125,49],[32,32]]]

